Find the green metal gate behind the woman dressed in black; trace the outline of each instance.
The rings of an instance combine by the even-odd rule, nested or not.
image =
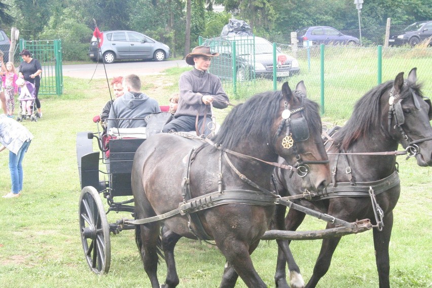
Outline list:
[[[39,95],[63,94],[61,40],[19,40],[20,51],[27,49],[42,65]],[[21,60],[22,61],[22,60]]]

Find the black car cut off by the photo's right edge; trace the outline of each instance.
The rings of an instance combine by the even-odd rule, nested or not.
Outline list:
[[[415,22],[406,27],[400,33],[395,33],[388,39],[390,46],[402,46],[405,44],[411,47],[429,38],[429,45],[432,45],[432,21]]]

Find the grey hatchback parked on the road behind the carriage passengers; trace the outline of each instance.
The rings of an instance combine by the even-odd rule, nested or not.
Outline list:
[[[144,34],[135,31],[103,31],[98,53],[97,39],[92,37],[89,57],[92,60],[103,59],[105,63],[115,60],[153,59],[163,61],[170,57],[169,47]]]

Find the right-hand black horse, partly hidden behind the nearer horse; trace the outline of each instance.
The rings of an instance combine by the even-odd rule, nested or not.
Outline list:
[[[400,195],[396,156],[383,155],[383,152],[395,151],[401,143],[411,156],[415,155],[419,166],[432,166],[430,100],[422,97],[421,86],[416,83],[416,68],[410,71],[407,80],[404,81],[403,76],[403,73],[398,74],[394,81],[378,85],[357,101],[346,125],[327,139],[332,183],[312,201],[294,200],[348,222],[366,218],[372,220],[376,226],[373,238],[380,287],[389,287],[388,245],[393,225],[392,210]],[[372,155],[365,155],[364,152],[372,152]],[[288,173],[277,168],[275,174],[281,196],[303,193],[296,186],[299,177],[290,179]],[[368,191],[369,185],[375,187],[373,194]],[[290,209],[283,221],[285,208],[276,209],[274,222],[278,229],[295,231],[304,220],[304,213]],[[333,227],[333,224],[327,225],[327,228]],[[322,240],[313,275],[306,287],[315,287],[326,274],[340,239]],[[279,250],[275,274],[277,287],[288,287],[285,259]],[[289,266],[296,265],[294,259],[287,260]]]

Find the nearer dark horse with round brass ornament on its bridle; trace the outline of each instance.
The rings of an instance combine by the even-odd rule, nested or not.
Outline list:
[[[132,167],[135,219],[161,217],[186,203],[188,194],[189,198],[209,193],[213,198],[244,197],[195,213],[175,214],[163,221],[162,237],[160,221],[137,225],[135,239],[152,287],[159,288],[156,271],[161,249],[167,264],[162,287],[178,284],[173,251],[181,237],[215,241],[227,259],[221,287],[235,286],[238,275],[248,287],[266,286],[250,259],[269,227],[277,198],[269,191],[274,167],[263,161],[281,156],[286,163],[298,162],[297,172],[308,175],[299,184],[302,189],[322,189],[331,179],[320,140],[318,105],[306,98],[303,82],[296,89],[291,91],[284,83],[282,91],[257,94],[237,105],[210,143],[162,133],[138,148]],[[303,134],[296,137],[294,126]],[[305,130],[308,138],[303,137]]]

